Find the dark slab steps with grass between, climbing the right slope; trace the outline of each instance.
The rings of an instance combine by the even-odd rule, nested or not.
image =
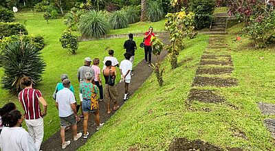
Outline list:
[[[225,43],[226,35],[212,35],[209,39],[209,46],[203,52],[199,67],[196,71],[192,88],[186,101],[187,108],[190,111],[211,112],[210,108],[193,108],[192,102],[199,101],[203,103],[224,104],[237,109],[233,104],[225,102],[225,97],[219,94],[219,91],[211,88],[230,87],[238,85],[238,80],[231,78],[234,71],[232,58],[228,53],[228,47]],[[238,128],[232,128],[233,135],[236,137],[246,138],[245,133]],[[241,148],[226,148],[227,150],[240,151]],[[169,150],[224,150],[214,144],[201,140],[189,141],[186,138],[175,138],[170,144]]]

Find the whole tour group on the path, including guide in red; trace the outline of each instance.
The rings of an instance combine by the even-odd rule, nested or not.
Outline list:
[[[153,27],[149,27],[144,36],[144,54],[145,61],[151,64],[151,36]],[[79,82],[80,105],[76,103],[74,87],[72,86],[68,75],[61,75],[61,82],[56,84],[53,98],[58,109],[58,116],[61,124],[61,148],[66,148],[71,142],[65,141],[65,130],[72,127],[74,141],[83,136],[86,139],[89,135],[87,131],[89,113],[96,115],[96,130],[99,130],[104,123],[100,123],[99,104],[106,102],[107,114],[118,110],[118,91],[115,86],[117,75],[116,67],[119,67],[121,73],[121,82],[124,82],[124,101],[128,99],[129,84],[133,75],[133,61],[135,58],[136,43],[133,40],[133,34],[129,34],[129,40],[124,43],[124,60],[118,62],[113,57],[114,51],[109,50],[109,56],[103,60],[104,67],[101,71],[98,58],[85,58],[84,65],[78,69],[77,78]],[[91,65],[93,62],[93,65]],[[100,73],[104,76],[104,89]],[[17,110],[14,103],[9,102],[3,108],[0,108],[0,148],[5,150],[40,150],[43,141],[44,126],[43,117],[47,115],[47,102],[44,100],[41,91],[33,89],[32,78],[25,76],[21,79],[21,84],[25,86],[19,93],[19,102],[25,111],[24,115]],[[99,100],[98,100],[99,93]],[[104,95],[103,95],[104,94]],[[111,108],[112,103],[112,108]],[[43,108],[40,107],[42,104]],[[78,110],[81,114],[78,116]],[[23,119],[28,127],[28,132],[21,127]],[[77,123],[83,120],[83,133],[77,132]]]

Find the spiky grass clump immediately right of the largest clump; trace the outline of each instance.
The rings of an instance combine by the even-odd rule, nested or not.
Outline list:
[[[109,23],[113,30],[118,30],[128,26],[128,15],[124,10],[113,12],[109,18]]]

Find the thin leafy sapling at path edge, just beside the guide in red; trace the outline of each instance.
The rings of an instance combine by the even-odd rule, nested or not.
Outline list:
[[[162,79],[162,73],[164,72],[164,69],[161,69],[162,62],[160,61],[159,55],[164,49],[164,43],[162,43],[162,40],[157,38],[156,36],[153,36],[151,38],[152,43],[152,52],[157,57],[157,62],[155,64],[151,64],[151,67],[154,69],[155,76],[157,77],[157,82],[159,83],[159,86],[162,86],[164,80]]]

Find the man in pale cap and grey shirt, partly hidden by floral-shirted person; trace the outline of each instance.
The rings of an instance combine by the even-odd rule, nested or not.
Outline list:
[[[78,69],[77,76],[78,76],[79,84],[81,84],[82,82],[85,82],[85,74],[87,72],[91,73],[91,75],[93,77],[92,78],[92,83],[94,84],[95,73],[94,73],[94,69],[92,69],[90,65],[91,65],[91,58],[86,57],[84,59],[84,65]],[[80,98],[80,110],[81,110],[80,117],[83,117],[83,111],[82,111],[83,97],[82,97],[81,93],[79,93],[79,98]]]

